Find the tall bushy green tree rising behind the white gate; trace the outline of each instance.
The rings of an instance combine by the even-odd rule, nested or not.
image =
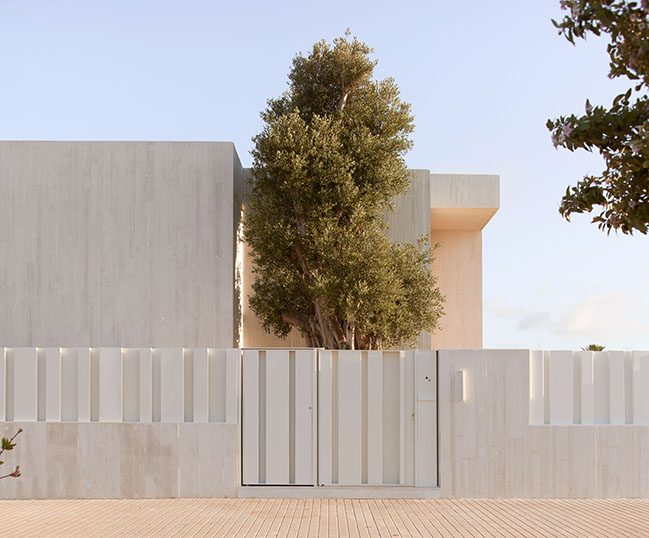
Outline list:
[[[371,52],[345,37],[296,56],[253,139],[250,305],[267,331],[297,327],[317,347],[413,344],[442,315],[426,240],[385,234],[383,214],[410,182],[413,118],[392,79],[372,79]]]

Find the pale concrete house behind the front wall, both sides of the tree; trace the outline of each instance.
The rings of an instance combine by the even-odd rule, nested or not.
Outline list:
[[[0,142],[0,344],[303,345],[248,308],[245,176],[229,142]],[[498,207],[497,176],[416,170],[387,216],[393,239],[441,243],[446,316],[420,347],[481,347],[481,230]]]

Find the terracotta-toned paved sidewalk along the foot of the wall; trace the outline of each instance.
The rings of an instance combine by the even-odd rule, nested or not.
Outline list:
[[[649,501],[0,501],[0,536],[647,537]]]

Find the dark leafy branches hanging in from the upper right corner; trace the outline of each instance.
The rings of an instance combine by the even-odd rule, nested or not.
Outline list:
[[[649,3],[642,0],[563,0],[568,10],[561,22],[552,21],[572,44],[589,33],[607,34],[610,78],[627,77],[634,87],[618,95],[610,107],[586,101],[583,115],[548,121],[552,141],[570,151],[597,149],[606,169],[587,175],[564,195],[560,212],[599,211],[593,222],[602,230],[647,233],[649,224]],[[599,207],[600,209],[596,209]]]

